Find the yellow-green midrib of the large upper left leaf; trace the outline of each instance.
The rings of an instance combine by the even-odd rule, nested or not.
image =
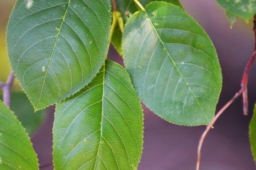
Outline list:
[[[46,73],[45,73],[45,76],[44,76],[44,82],[43,82],[42,89],[41,89],[41,93],[40,93],[40,96],[39,96],[39,99],[38,99],[38,104],[37,104],[35,110],[38,110],[38,105],[39,105],[39,103],[40,103],[41,96],[42,96],[42,93],[43,93],[44,84],[45,84],[45,81],[46,81],[46,77],[47,77],[47,73],[48,73],[48,70],[49,70],[49,66],[50,66],[50,63],[51,63],[51,61],[52,61],[53,53],[54,53],[54,51],[55,51],[55,47],[56,47],[56,44],[57,44],[57,41],[58,41],[58,37],[59,37],[60,32],[61,32],[61,27],[63,26],[65,17],[67,16],[67,11],[68,11],[68,8],[69,8],[69,6],[70,6],[70,1],[71,1],[71,0],[68,0],[68,4],[67,4],[66,11],[65,11],[64,16],[63,16],[63,19],[62,19],[62,21],[61,21],[60,28],[58,29],[58,33],[57,33],[57,35],[56,35],[56,39],[55,39],[55,42],[54,42],[54,45],[53,45],[53,48],[52,48],[51,57],[50,57],[50,59],[49,59],[49,62],[48,62],[48,65],[47,65],[47,70],[46,70]]]

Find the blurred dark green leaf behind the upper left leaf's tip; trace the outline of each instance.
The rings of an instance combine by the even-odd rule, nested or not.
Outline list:
[[[3,96],[0,95],[0,99],[2,98]],[[14,111],[29,135],[38,129],[43,122],[46,113],[46,110],[41,110],[35,113],[26,94],[22,92],[12,92],[11,110]]]

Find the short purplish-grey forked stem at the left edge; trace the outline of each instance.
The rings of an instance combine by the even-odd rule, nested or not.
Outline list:
[[[6,83],[1,82],[0,87],[2,88],[3,91],[3,103],[10,108],[10,102],[11,102],[11,90],[12,90],[12,84],[14,81],[14,74],[11,71],[9,74],[9,77],[6,81]]]

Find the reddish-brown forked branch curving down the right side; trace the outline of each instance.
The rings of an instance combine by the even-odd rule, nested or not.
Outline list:
[[[197,159],[197,165],[196,165],[196,170],[199,170],[200,168],[200,161],[201,161],[201,148],[204,142],[205,137],[207,136],[207,134],[209,133],[209,130],[212,128],[212,126],[214,125],[214,123],[216,122],[216,120],[219,118],[219,116],[221,116],[221,114],[239,97],[241,96],[241,94],[243,94],[243,111],[244,111],[244,115],[248,114],[248,90],[247,90],[247,84],[248,84],[248,75],[249,75],[249,71],[250,68],[254,62],[254,60],[256,59],[256,15],[254,15],[254,20],[253,20],[253,31],[254,31],[254,36],[255,36],[255,46],[254,46],[254,52],[253,55],[250,57],[249,62],[247,63],[245,69],[244,69],[244,74],[243,74],[243,78],[241,81],[241,89],[235,94],[235,96],[233,96],[232,99],[230,99],[229,102],[227,102],[226,105],[223,106],[223,108],[221,108],[220,111],[218,111],[218,113],[215,115],[214,119],[209,123],[209,125],[206,127],[206,129],[204,130],[204,133],[202,134],[199,143],[198,143],[198,159]]]

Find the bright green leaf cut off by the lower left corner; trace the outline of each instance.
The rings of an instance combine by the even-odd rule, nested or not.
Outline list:
[[[0,102],[0,170],[38,170],[29,137],[14,113]]]

